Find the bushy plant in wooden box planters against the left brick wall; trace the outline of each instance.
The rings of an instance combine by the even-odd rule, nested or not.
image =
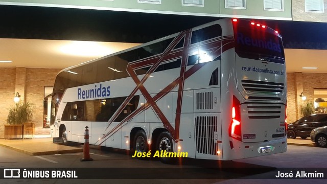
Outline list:
[[[33,113],[34,105],[29,102],[18,102],[14,106],[10,107],[7,125],[5,125],[5,139],[24,138],[25,128],[33,127],[34,129],[34,123],[31,123]],[[24,124],[27,124],[25,128]],[[34,133],[34,131],[31,133]]]

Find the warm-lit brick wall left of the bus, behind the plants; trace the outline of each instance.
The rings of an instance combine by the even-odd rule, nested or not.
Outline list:
[[[35,123],[36,135],[50,135],[49,128],[43,128],[43,98],[44,86],[53,86],[56,75],[61,69],[49,68],[0,68],[0,139],[4,138],[4,125],[7,123],[9,107],[14,105],[13,98],[18,92],[21,97],[35,105],[33,123]],[[26,83],[22,85],[24,77],[21,71],[26,71]],[[20,78],[16,80],[16,78]],[[15,88],[16,82],[19,83]],[[25,87],[23,91],[18,91]],[[17,90],[17,91],[15,91]]]

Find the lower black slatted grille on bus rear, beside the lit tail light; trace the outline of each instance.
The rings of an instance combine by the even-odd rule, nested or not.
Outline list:
[[[281,106],[272,104],[248,104],[249,119],[275,119],[281,118]]]

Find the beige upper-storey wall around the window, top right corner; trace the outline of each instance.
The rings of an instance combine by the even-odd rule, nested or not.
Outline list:
[[[306,12],[305,10],[305,0],[292,0],[293,20],[327,22],[327,0],[323,0],[323,3],[324,3],[324,13],[311,13],[311,12]]]

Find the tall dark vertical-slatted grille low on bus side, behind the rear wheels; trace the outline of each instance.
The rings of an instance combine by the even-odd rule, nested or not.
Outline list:
[[[217,117],[195,118],[196,151],[198,153],[218,155],[218,143],[215,141],[214,132],[217,132]]]

